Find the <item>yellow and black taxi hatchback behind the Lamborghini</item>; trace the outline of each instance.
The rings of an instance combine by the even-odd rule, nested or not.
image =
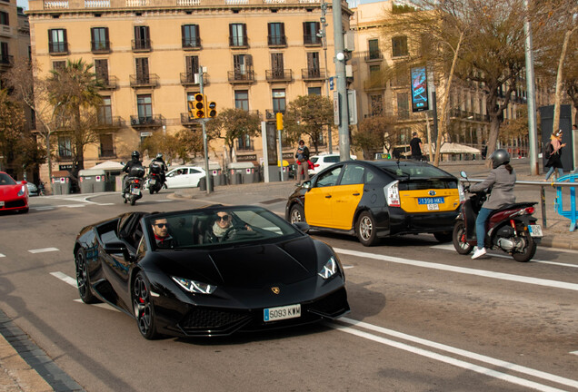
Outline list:
[[[426,162],[339,162],[294,191],[285,219],[354,234],[365,246],[411,233],[444,242],[452,240],[460,197],[457,178]]]

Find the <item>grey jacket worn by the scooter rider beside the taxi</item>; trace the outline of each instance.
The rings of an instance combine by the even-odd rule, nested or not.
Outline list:
[[[489,210],[497,210],[505,205],[516,202],[516,197],[513,194],[513,184],[516,181],[516,173],[512,174],[503,166],[490,171],[488,177],[483,182],[478,182],[470,186],[470,191],[483,191],[492,188],[492,193],[488,199],[483,202],[483,208]]]

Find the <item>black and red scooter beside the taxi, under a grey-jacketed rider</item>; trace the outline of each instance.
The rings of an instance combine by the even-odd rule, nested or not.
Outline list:
[[[461,171],[462,177],[467,175]],[[453,248],[459,254],[469,254],[477,245],[475,237],[475,219],[485,201],[486,191],[471,192],[470,185],[463,187],[469,196],[462,201],[462,207],[453,226]],[[485,247],[502,250],[510,254],[513,260],[526,262],[533,258],[537,244],[543,237],[542,227],[535,224],[534,205],[537,202],[519,202],[495,210],[486,220]]]

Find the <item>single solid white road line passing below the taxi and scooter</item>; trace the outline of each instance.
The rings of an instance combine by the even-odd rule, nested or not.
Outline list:
[[[475,275],[480,276],[483,278],[492,278],[492,279],[503,279],[503,280],[510,280],[518,283],[527,283],[533,284],[538,286],[545,286],[545,287],[552,287],[557,289],[570,289],[573,291],[578,291],[578,284],[576,283],[568,283],[558,280],[551,280],[551,279],[540,279],[540,278],[532,278],[532,277],[525,277],[521,275],[513,275],[503,272],[493,272],[489,270],[475,270],[465,267],[454,267],[451,265],[439,264],[429,261],[420,261],[420,260],[411,260],[411,259],[403,259],[393,256],[385,256],[375,253],[367,253],[357,250],[345,250],[334,248],[337,253],[346,254],[349,256],[357,256],[366,259],[374,259],[374,260],[383,260],[394,262],[397,264],[405,264],[414,267],[422,267],[432,270],[446,270],[450,272],[462,273],[466,275]]]

